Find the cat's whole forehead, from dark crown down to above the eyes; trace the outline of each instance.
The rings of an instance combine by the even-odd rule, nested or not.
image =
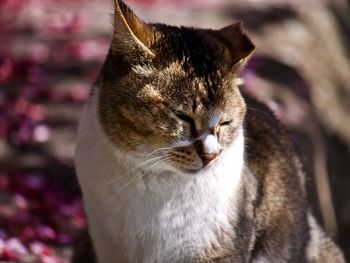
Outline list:
[[[134,66],[133,71],[151,79],[179,105],[211,108],[222,101],[233,86],[229,72],[229,51],[211,37],[210,30],[160,25],[153,47],[157,54],[150,65]],[[226,56],[226,57],[225,57]]]

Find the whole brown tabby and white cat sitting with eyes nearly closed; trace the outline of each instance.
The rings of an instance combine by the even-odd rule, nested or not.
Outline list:
[[[345,262],[284,127],[239,88],[254,49],[240,23],[146,24],[115,0],[78,130],[89,234],[73,262]]]

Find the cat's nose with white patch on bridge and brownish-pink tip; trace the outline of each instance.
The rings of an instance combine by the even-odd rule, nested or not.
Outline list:
[[[214,135],[208,134],[202,136],[194,143],[198,156],[203,162],[203,166],[206,166],[212,160],[214,160],[219,154],[219,145],[217,138]]]

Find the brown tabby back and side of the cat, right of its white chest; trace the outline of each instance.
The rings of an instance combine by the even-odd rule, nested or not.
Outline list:
[[[258,188],[255,258],[345,262],[309,211],[304,172],[288,132],[266,105],[246,94],[244,98],[246,162]]]

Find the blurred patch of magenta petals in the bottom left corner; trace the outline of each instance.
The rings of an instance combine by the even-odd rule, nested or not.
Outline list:
[[[86,227],[79,198],[62,192],[49,179],[40,173],[0,175],[7,193],[15,193],[0,203],[0,222],[7,226],[0,231],[0,260],[34,253],[42,262],[62,262],[43,242],[70,245]]]

